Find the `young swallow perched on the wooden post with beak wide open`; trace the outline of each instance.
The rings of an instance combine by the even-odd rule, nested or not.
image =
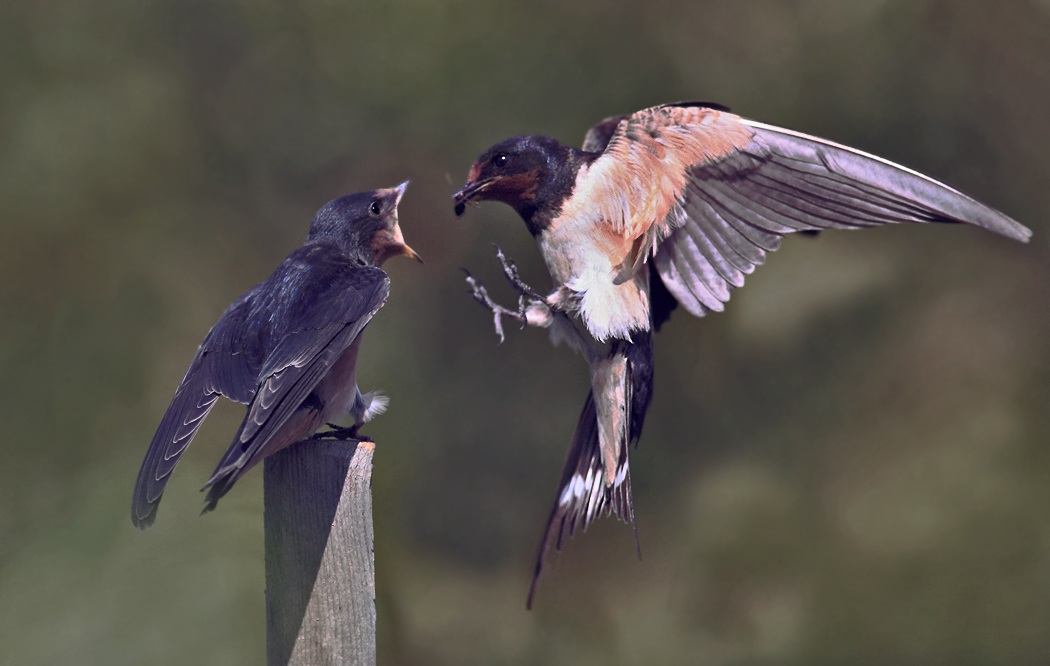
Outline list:
[[[380,266],[405,245],[397,206],[408,182],[326,204],[307,242],[265,282],[237,298],[212,327],[146,451],[131,522],[149,527],[164,486],[219,396],[248,405],[233,443],[208,479],[205,512],[267,456],[331,421],[356,437],[387,398],[361,393],[355,367],[361,333],[390,295]],[[328,432],[324,433],[329,434]]]

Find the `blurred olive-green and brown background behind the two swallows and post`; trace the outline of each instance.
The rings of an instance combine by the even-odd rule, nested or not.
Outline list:
[[[261,474],[198,518],[217,410],[153,529],[153,429],[208,328],[339,194],[413,180],[359,366],[384,664],[1050,661],[1050,3],[75,2],[0,8],[0,664],[264,661]],[[586,372],[498,346],[461,267],[512,134],[682,99],[856,146],[1029,225],[792,237],[657,338],[631,530],[525,592]]]

